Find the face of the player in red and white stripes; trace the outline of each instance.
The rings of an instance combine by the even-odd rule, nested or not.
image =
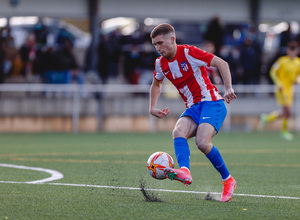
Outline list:
[[[161,56],[169,60],[175,57],[177,47],[172,34],[158,35],[152,39],[152,44]]]

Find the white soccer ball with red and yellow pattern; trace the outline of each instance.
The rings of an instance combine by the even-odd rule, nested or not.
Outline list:
[[[173,158],[165,152],[155,152],[152,154],[147,162],[147,168],[150,176],[155,179],[165,179],[165,168],[174,168]]]

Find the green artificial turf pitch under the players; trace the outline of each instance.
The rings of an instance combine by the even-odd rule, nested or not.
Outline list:
[[[156,151],[176,161],[171,133],[0,134],[1,164],[64,175],[28,184],[50,174],[0,166],[0,219],[300,219],[299,141],[276,132],[218,134],[213,144],[238,185],[232,201],[221,203],[214,194],[222,192],[220,175],[194,139],[186,187],[147,172]]]

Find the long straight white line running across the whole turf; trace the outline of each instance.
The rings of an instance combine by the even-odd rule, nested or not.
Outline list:
[[[128,190],[141,190],[137,187],[120,187],[120,186],[102,186],[102,185],[89,185],[89,184],[73,184],[73,183],[32,183],[32,182],[14,182],[14,181],[0,181],[0,183],[23,183],[23,184],[47,184],[55,186],[77,186],[77,187],[91,187],[91,188],[105,188],[105,189],[128,189]],[[168,189],[145,189],[156,192],[173,192],[173,193],[191,193],[191,194],[207,194],[208,192],[199,191],[184,191],[184,190],[168,190]],[[210,194],[220,195],[221,193],[209,192]],[[273,199],[300,199],[300,197],[289,196],[268,196],[268,195],[253,195],[253,194],[234,194],[235,196],[246,197],[260,197],[260,198],[273,198]]]

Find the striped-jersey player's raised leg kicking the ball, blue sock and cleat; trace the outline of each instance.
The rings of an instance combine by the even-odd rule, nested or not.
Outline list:
[[[190,174],[190,149],[187,139],[195,136],[197,129],[196,123],[192,118],[183,116],[177,121],[173,130],[174,149],[180,169],[165,169],[166,176],[173,180],[178,180],[185,185],[192,183]]]

